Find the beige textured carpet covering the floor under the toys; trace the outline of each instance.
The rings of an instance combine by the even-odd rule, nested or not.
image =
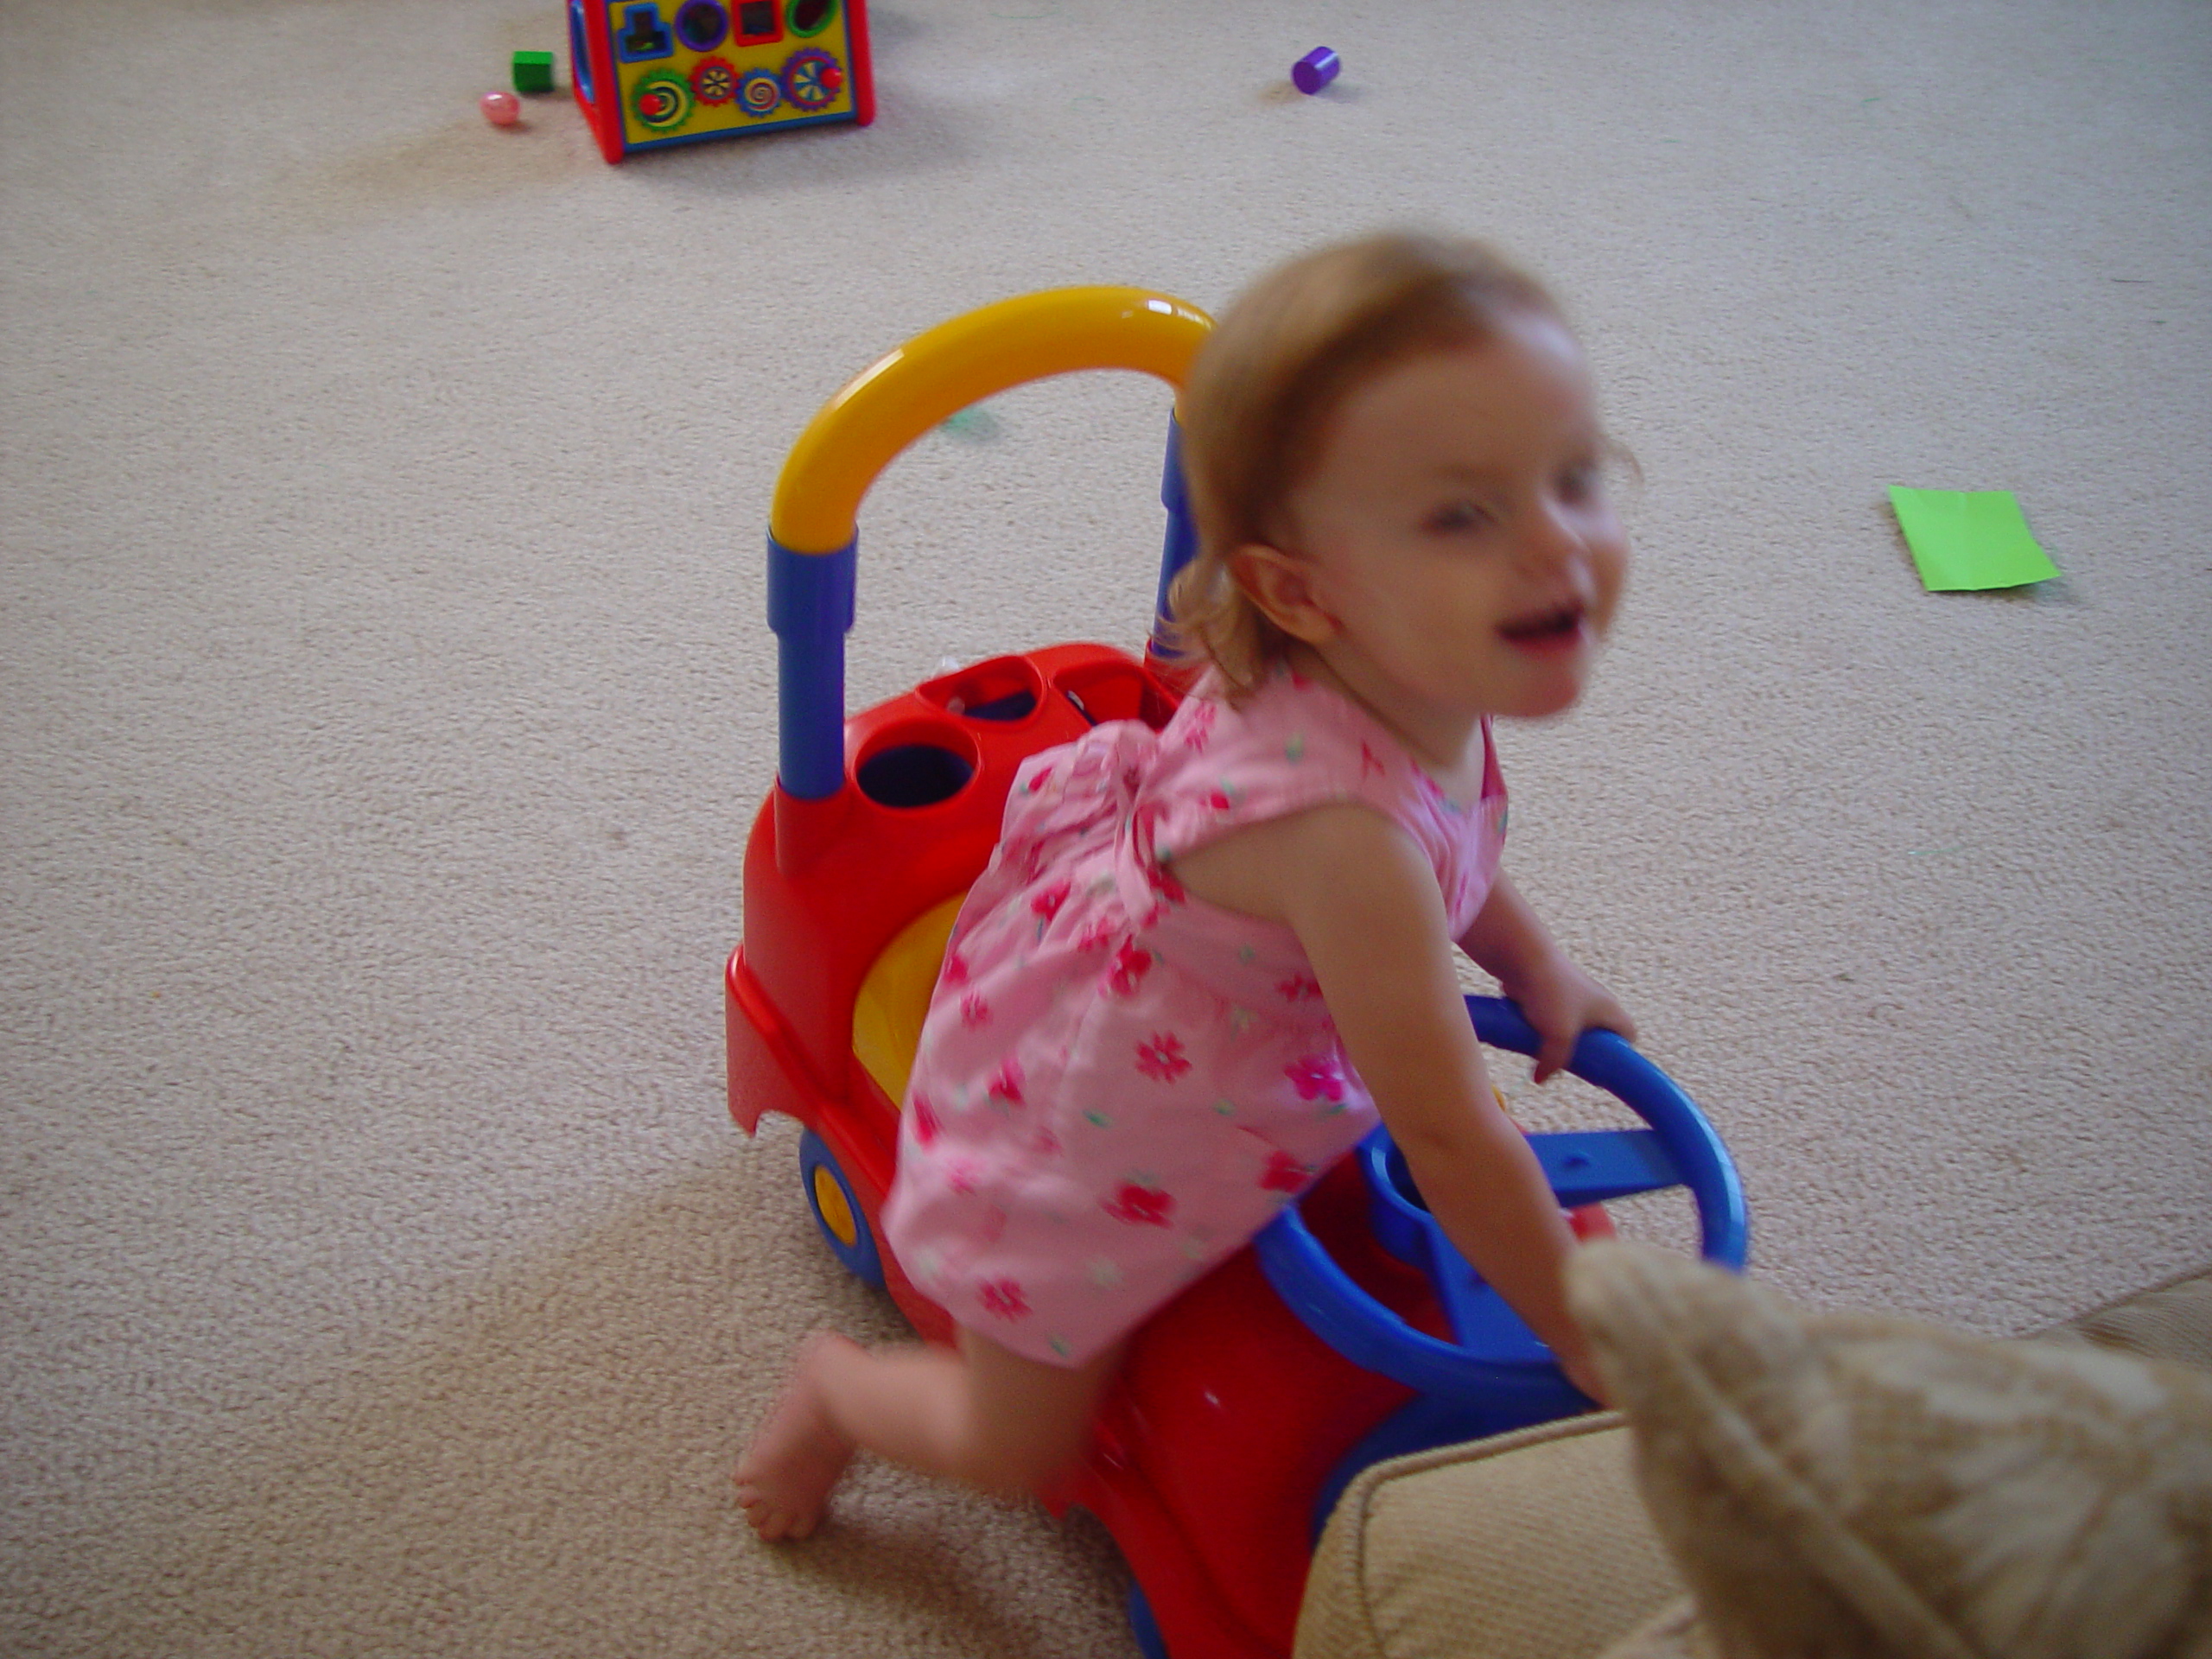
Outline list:
[[[1759,1270],[2020,1332],[2212,1259],[2201,0],[885,0],[874,128],[622,168],[478,117],[518,46],[0,9],[0,1650],[1130,1650],[1097,1526],[728,1498],[790,1345],[894,1332],[721,1099],[768,495],[958,310],[1376,223],[1548,272],[1644,462],[1509,858]],[[1141,630],[1161,392],[984,416],[863,511],[856,706]],[[2064,580],[1922,593],[1889,484]]]

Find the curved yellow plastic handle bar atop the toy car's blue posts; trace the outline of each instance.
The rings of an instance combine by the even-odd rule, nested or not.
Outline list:
[[[900,449],[1009,387],[1077,369],[1137,369],[1181,389],[1212,319],[1148,288],[1053,288],[916,334],[863,369],[799,434],[768,533],[792,553],[836,553],[860,498]]]

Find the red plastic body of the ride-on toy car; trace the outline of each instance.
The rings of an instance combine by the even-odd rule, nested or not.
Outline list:
[[[768,1110],[830,1148],[869,1241],[898,1148],[898,1106],[854,1055],[854,1000],[872,962],[920,914],[982,874],[1020,763],[1093,719],[1166,726],[1172,686],[1110,646],[1053,646],[933,679],[847,723],[854,785],[827,805],[781,790],[745,847],[745,942],[728,962],[730,1115],[750,1133]],[[1015,721],[953,703],[1033,699]],[[889,805],[858,787],[876,757],[942,745],[973,757],[951,799]],[[816,1219],[836,1237],[834,1206]],[[1427,1281],[1363,1225],[1349,1164],[1307,1199],[1316,1232],[1383,1301],[1444,1336]],[[843,1254],[843,1252],[841,1252]],[[883,1285],[931,1340],[945,1310],[889,1252]],[[1161,1310],[1130,1347],[1082,1471],[1048,1502],[1079,1504],[1113,1531],[1175,1659],[1290,1652],[1314,1502],[1329,1473],[1411,1389],[1360,1369],[1314,1336],[1243,1250]]]

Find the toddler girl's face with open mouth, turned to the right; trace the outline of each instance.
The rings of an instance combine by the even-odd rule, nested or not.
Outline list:
[[[1438,714],[1568,708],[1628,571],[1601,462],[1582,345],[1540,312],[1356,387],[1287,502],[1323,655]]]

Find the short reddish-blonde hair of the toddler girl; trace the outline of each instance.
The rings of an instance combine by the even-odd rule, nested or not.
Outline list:
[[[1290,637],[1237,582],[1230,555],[1283,538],[1283,502],[1354,389],[1409,356],[1480,345],[1515,312],[1566,321],[1491,246],[1413,232],[1321,248],[1239,294],[1177,403],[1199,551],[1170,588],[1175,648],[1210,657],[1234,695],[1254,690]]]

